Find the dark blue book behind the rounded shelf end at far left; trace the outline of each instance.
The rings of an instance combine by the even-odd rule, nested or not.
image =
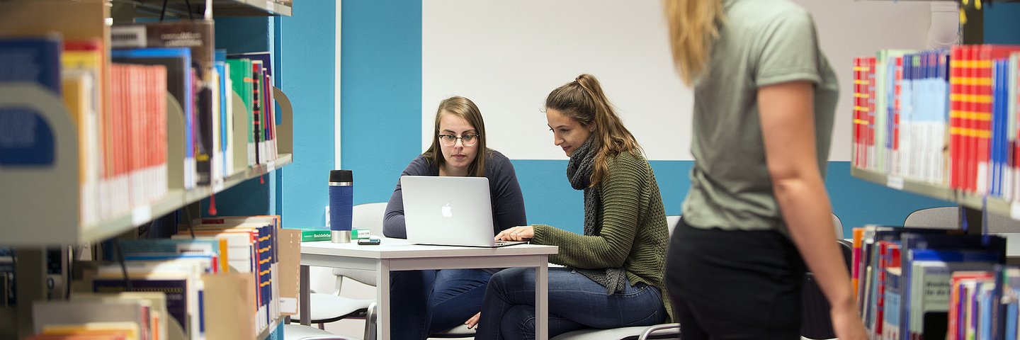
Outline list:
[[[36,83],[60,94],[60,39],[0,39],[0,83]],[[0,107],[5,138],[0,139],[0,166],[53,164],[55,140],[49,125],[27,108]]]

